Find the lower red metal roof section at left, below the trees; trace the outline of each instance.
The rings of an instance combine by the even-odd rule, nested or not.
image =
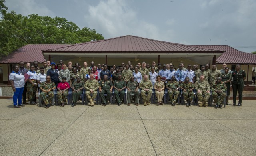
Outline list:
[[[42,54],[43,49],[59,48],[67,45],[63,44],[34,44],[25,45],[20,49],[14,51],[10,55],[0,59],[0,63],[18,63],[24,61],[25,63],[38,61],[42,63],[45,61]]]

